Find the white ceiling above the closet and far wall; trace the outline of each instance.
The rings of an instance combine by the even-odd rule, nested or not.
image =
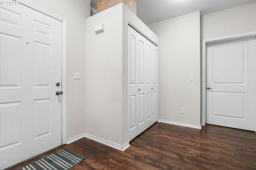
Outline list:
[[[256,0],[137,0],[137,16],[146,25],[200,11],[200,15],[232,8]],[[97,0],[91,0],[97,9]]]

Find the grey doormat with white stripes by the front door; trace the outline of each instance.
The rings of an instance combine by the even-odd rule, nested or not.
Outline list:
[[[83,159],[83,156],[64,148],[19,170],[68,170]]]

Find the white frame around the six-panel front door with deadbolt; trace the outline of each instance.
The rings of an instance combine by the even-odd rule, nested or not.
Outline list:
[[[62,145],[66,144],[66,27],[67,27],[67,20],[65,18],[62,18],[60,16],[57,16],[56,14],[49,12],[43,8],[40,8],[39,6],[36,6],[26,0],[15,0],[18,1],[19,4],[22,4],[28,8],[31,8],[32,10],[38,11],[42,14],[45,14],[47,16],[50,16],[51,18],[54,18],[58,21],[62,22],[62,101],[61,101],[61,126],[62,126]]]

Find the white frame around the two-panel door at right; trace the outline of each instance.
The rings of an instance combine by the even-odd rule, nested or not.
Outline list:
[[[207,58],[206,45],[211,43],[218,43],[222,41],[230,41],[230,40],[236,40],[236,39],[244,39],[249,37],[256,37],[256,31],[202,40],[202,86],[201,86],[201,90],[202,90],[201,91],[202,92],[201,124],[202,126],[205,126],[206,124],[206,78],[207,78],[206,77],[206,69],[207,69],[206,68],[206,58]],[[255,126],[256,126],[256,123],[255,123]]]

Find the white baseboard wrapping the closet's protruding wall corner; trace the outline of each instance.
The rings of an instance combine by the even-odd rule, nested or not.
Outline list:
[[[92,135],[89,135],[89,134],[86,134],[86,133],[85,133],[85,137],[86,137],[86,138],[89,138],[89,139],[92,139],[93,141],[96,141],[96,142],[98,142],[98,143],[102,143],[102,144],[104,144],[104,145],[107,145],[107,146],[109,146],[109,147],[112,147],[112,148],[114,148],[114,149],[121,150],[121,151],[124,151],[124,150],[126,150],[128,147],[130,147],[129,142],[126,143],[124,146],[122,146],[122,145],[118,145],[118,144],[116,144],[116,143],[112,143],[112,142],[110,142],[110,141],[106,141],[105,139],[100,139],[100,138],[98,138],[98,137],[95,137],[95,136],[92,136]]]

